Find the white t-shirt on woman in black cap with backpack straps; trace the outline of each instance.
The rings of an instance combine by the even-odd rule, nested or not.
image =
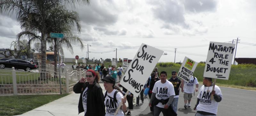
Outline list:
[[[114,89],[111,93],[107,92],[107,96],[106,96],[105,101],[104,101],[104,104],[106,106],[105,116],[114,116],[114,114],[117,110],[117,107],[119,106],[119,104],[122,102],[122,99],[124,98],[124,95],[121,92],[117,92],[117,94],[116,94],[117,103],[116,103],[115,100],[114,100],[114,93],[116,91],[117,90]],[[110,96],[113,99],[109,98],[108,96]],[[120,109],[118,111],[118,113],[116,114],[116,116],[124,116],[124,112]]]

